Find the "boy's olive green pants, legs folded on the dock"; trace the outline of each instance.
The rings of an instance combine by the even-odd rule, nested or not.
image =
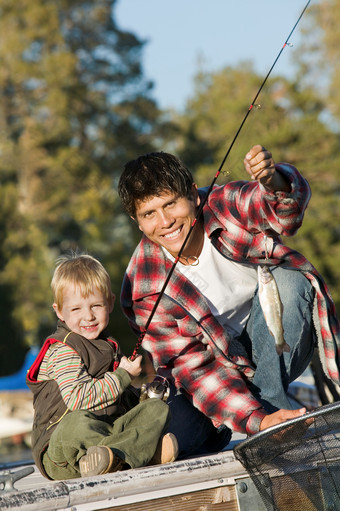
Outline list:
[[[53,431],[43,455],[51,479],[80,477],[79,459],[92,445],[106,445],[131,468],[147,465],[170,420],[169,407],[160,399],[146,399],[108,423],[88,410],[75,410]]]

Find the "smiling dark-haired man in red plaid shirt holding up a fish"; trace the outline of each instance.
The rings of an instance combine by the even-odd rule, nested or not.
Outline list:
[[[177,158],[151,153],[126,164],[119,194],[144,236],[127,268],[121,303],[134,331],[143,332],[194,225],[143,348],[202,414],[254,434],[305,412],[290,409],[286,392],[308,366],[316,341],[328,376],[339,381],[340,328],[322,277],[280,239],[302,224],[307,181],[259,145],[244,165],[251,180],[214,187],[196,221],[207,191],[197,190]],[[281,356],[259,304],[256,269],[264,264],[283,302],[290,350]],[[175,403],[173,410],[180,417]]]

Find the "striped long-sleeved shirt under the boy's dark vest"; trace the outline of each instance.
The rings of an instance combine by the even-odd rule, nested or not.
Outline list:
[[[38,380],[55,380],[69,410],[101,410],[121,396],[119,371],[93,378],[76,351],[65,344],[49,347],[41,363]],[[117,373],[117,374],[116,374]]]

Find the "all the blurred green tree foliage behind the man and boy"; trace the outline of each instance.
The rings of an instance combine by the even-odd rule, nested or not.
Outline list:
[[[108,269],[112,331],[131,352],[136,339],[118,297],[140,233],[120,208],[121,169],[162,149],[210,184],[264,78],[249,62],[200,71],[185,112],[160,112],[143,76],[144,42],[119,29],[115,3],[0,0],[0,375],[53,329],[50,279],[69,250]],[[298,167],[313,196],[285,242],[321,271],[338,310],[339,16],[340,0],[308,9],[296,76],[270,78],[219,178],[248,179],[243,158],[257,143]]]

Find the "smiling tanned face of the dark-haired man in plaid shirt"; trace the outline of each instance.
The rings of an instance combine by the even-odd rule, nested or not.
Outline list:
[[[159,196],[138,201],[135,220],[145,236],[176,257],[195,219],[199,202],[196,185],[193,185],[192,199],[164,191]],[[183,255],[192,255],[194,245],[190,238]]]

